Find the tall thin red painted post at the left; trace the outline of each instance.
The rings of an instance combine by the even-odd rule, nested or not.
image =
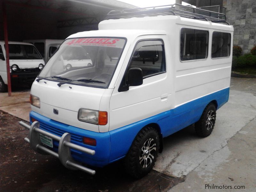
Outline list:
[[[2,9],[3,9],[3,19],[4,19],[4,44],[5,44],[5,60],[6,60],[6,71],[7,71],[8,96],[11,96],[12,89],[11,89],[11,75],[10,75],[8,31],[7,31],[7,17],[6,17],[5,1],[3,1],[3,3],[2,3]]]

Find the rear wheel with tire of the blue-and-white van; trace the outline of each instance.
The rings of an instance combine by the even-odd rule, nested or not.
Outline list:
[[[200,137],[207,137],[212,133],[216,120],[216,107],[213,103],[209,103],[200,117],[195,123],[195,130]]]

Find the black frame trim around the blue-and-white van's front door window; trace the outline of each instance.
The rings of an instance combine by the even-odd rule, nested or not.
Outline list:
[[[135,48],[136,48],[137,44],[140,43],[141,41],[162,41],[162,42],[163,42],[162,45],[164,46],[164,40],[163,40],[162,38],[140,39],[140,40],[138,40],[138,41],[136,42],[136,44],[134,45],[134,48],[133,48],[133,50],[132,50],[132,55],[133,55],[133,53],[134,53],[134,51],[135,51]],[[129,59],[129,61],[128,61],[128,65],[126,66],[126,69],[125,69],[125,71],[124,71],[124,75],[123,75],[123,77],[122,77],[121,83],[119,84],[118,92],[123,92],[123,91],[121,91],[121,89],[122,89],[121,87],[123,87],[123,86],[126,85],[126,84],[123,83],[123,81],[124,81],[124,77],[125,77],[125,75],[126,75],[126,73],[127,73],[127,71],[128,71],[128,67],[129,67],[129,65],[130,65],[130,63],[131,63],[132,55],[130,56],[130,59]],[[147,75],[146,77],[143,77],[143,79],[146,79],[146,78],[152,77],[152,76],[156,76],[156,75],[160,75],[160,74],[163,74],[163,73],[166,73],[166,72],[167,72],[167,71],[166,71],[166,54],[165,54],[165,47],[164,47],[164,61],[165,61],[165,71],[161,71],[161,72],[158,72],[158,73],[154,73],[154,74],[151,74],[151,75]]]

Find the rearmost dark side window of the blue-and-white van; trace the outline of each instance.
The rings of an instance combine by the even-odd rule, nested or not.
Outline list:
[[[228,57],[230,55],[230,33],[212,33],[212,58]]]

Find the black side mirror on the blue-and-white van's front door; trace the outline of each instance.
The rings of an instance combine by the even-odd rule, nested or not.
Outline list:
[[[128,85],[129,86],[138,86],[143,83],[143,75],[141,68],[130,68],[128,72]]]

